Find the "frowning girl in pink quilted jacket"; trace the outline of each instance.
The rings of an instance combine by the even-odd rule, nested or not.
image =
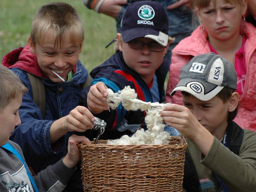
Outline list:
[[[195,0],[193,7],[202,24],[172,51],[166,101],[182,104],[180,93],[170,96],[181,67],[196,55],[215,52],[236,69],[239,109],[234,121],[243,129],[256,131],[256,29],[244,21],[246,1]]]

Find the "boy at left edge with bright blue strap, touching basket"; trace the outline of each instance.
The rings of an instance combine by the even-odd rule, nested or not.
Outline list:
[[[80,159],[76,144],[90,141],[84,136],[70,136],[67,155],[32,177],[19,145],[9,140],[20,124],[19,107],[27,91],[19,77],[0,65],[0,191],[62,191]]]

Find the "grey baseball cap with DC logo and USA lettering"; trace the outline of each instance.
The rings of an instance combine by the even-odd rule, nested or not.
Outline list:
[[[211,100],[224,87],[236,90],[237,76],[232,63],[215,53],[195,56],[181,68],[180,82],[171,92],[188,92],[202,101]]]

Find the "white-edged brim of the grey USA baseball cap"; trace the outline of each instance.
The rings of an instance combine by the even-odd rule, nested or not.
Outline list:
[[[223,88],[223,86],[215,85],[207,81],[183,78],[172,90],[171,96],[173,96],[176,91],[184,91],[190,93],[199,100],[208,101],[216,96]]]

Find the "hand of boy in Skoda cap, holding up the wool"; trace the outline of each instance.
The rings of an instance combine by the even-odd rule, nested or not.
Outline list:
[[[103,110],[108,110],[108,105],[105,103],[107,96],[107,87],[104,83],[98,82],[92,85],[87,95],[87,105],[89,110],[94,114],[99,114]]]

